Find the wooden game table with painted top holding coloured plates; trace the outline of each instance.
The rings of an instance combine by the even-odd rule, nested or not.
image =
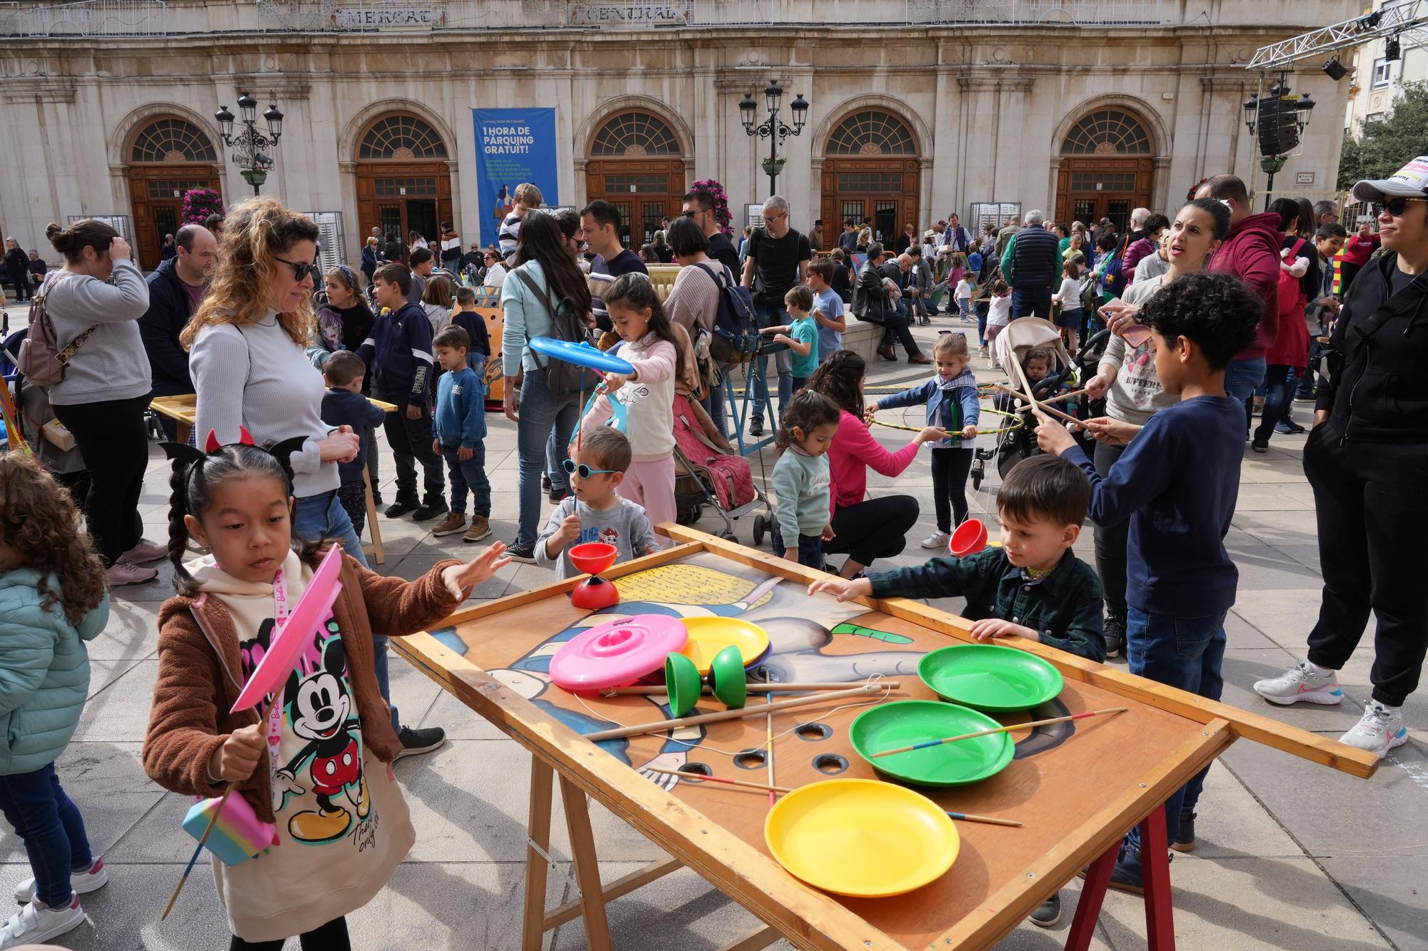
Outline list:
[[[767,668],[783,681],[858,681],[874,673],[901,683],[898,697],[931,698],[915,677],[928,650],[970,640],[968,621],[892,598],[838,604],[807,597],[825,577],[790,561],[681,525],[658,531],[685,544],[615,565],[617,613],[737,615],[773,641]],[[584,575],[581,575],[584,577]],[[1017,927],[1080,868],[1092,864],[1067,947],[1090,944],[1115,847],[1134,825],[1147,841],[1147,920],[1151,948],[1174,947],[1165,861],[1164,800],[1237,737],[1367,777],[1378,760],[1267,717],[1134,677],[1032,641],[1010,640],[1061,670],[1061,695],[1004,723],[1067,711],[1127,707],[1117,717],[1017,733],[1017,758],[971,787],[922,790],[948,810],[1015,818],[1021,828],[958,822],[961,852],[951,871],[907,895],[840,898],[785,872],[764,845],[767,798],[734,787],[691,784],[647,765],[708,765],[715,775],[767,781],[763,765],[740,768],[730,755],[765,740],[765,718],[708,724],[703,735],[653,734],[591,744],[581,734],[658,720],[663,697],[575,698],[548,681],[548,658],[587,625],[607,620],[571,607],[571,578],[500,598],[448,618],[431,633],[393,638],[393,647],[446,690],[531,751],[530,844],[523,948],[544,931],[584,915],[588,947],[611,947],[605,902],[680,865],[694,868],[767,927],[725,948],[763,948],[780,937],[800,948],[982,948]],[[760,703],[760,701],[754,701]],[[775,778],[798,787],[833,775],[873,778],[847,743],[861,708],[840,703],[774,715]],[[700,711],[723,708],[705,697]],[[827,733],[827,735],[824,735]],[[681,745],[684,741],[690,745]],[[747,763],[744,764],[748,765]],[[547,911],[554,775],[570,827],[580,898]],[[620,815],[671,857],[613,882],[600,881],[587,797]],[[1152,861],[1160,857],[1160,861]]]

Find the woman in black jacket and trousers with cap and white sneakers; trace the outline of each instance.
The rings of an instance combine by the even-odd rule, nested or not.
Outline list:
[[[1428,537],[1428,158],[1359,181],[1387,251],[1344,300],[1319,380],[1304,473],[1314,487],[1324,595],[1308,660],[1254,688],[1277,704],[1337,704],[1372,610],[1372,700],[1339,740],[1378,755],[1408,740],[1401,707],[1428,648],[1419,554]]]

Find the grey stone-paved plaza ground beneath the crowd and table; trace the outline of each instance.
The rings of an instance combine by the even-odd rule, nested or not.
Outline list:
[[[11,308],[19,316],[17,308]],[[20,316],[23,320],[23,316]],[[938,318],[917,336],[930,341],[938,327],[964,328]],[[974,358],[990,380],[985,360]],[[880,363],[871,384],[925,378],[921,368]],[[1308,423],[1308,407],[1295,414]],[[920,418],[920,417],[917,417]],[[511,541],[516,518],[516,431],[488,416],[487,463],[494,488],[493,540]],[[878,428],[888,446],[908,436]],[[1304,638],[1318,610],[1318,548],[1314,500],[1299,464],[1302,437],[1275,436],[1271,451],[1245,447],[1240,504],[1227,544],[1240,565],[1240,597],[1228,618],[1225,703],[1284,723],[1338,737],[1369,697],[1371,634],[1342,671],[1347,693],[1338,708],[1277,708],[1250,684],[1302,657]],[[381,448],[384,483],[391,458]],[[157,446],[141,498],[147,535],[167,531],[167,467]],[[773,468],[773,454],[764,464]],[[755,478],[761,474],[754,461]],[[393,490],[384,488],[388,498]],[[873,494],[911,493],[922,520],[900,563],[917,563],[917,541],[932,527],[931,476],[925,456],[897,480],[870,474]],[[974,513],[995,514],[995,477],[972,497]],[[383,520],[384,571],[414,578],[444,557],[470,557],[460,535],[433,538],[410,520]],[[703,528],[718,528],[705,513]],[[738,535],[750,543],[751,525]],[[1077,544],[1092,561],[1090,527]],[[885,567],[885,565],[880,565]],[[510,565],[477,588],[496,598],[553,580],[534,565]],[[178,821],[184,797],[147,780],[140,745],[157,668],[156,615],[169,597],[169,570],[157,583],[121,588],[109,630],[90,644],[90,701],[80,730],[59,761],[66,788],[84,812],[90,837],[104,854],[111,882],[84,898],[90,922],[64,937],[76,951],[154,948],[196,951],[227,945],[224,915],[206,862],[196,870],[169,921],[159,912],[193,851]],[[951,613],[960,600],[937,603]],[[1111,661],[1124,664],[1124,658]],[[441,725],[450,741],[440,751],[397,764],[417,830],[417,844],[390,887],[348,917],[357,948],[516,948],[520,935],[528,755],[494,727],[444,694],[401,660],[393,663],[394,701],[413,725]],[[1372,780],[1355,780],[1250,741],[1238,741],[1211,770],[1197,822],[1200,848],[1171,865],[1175,931],[1182,948],[1359,950],[1428,948],[1428,691],[1409,698],[1405,720],[1412,740],[1395,750]],[[548,902],[574,898],[564,821],[555,805]],[[620,820],[595,805],[595,842],[608,881],[660,857]],[[954,868],[955,872],[955,868]],[[20,840],[0,840],[0,894],[30,874]],[[1065,942],[1080,894],[1064,890],[1061,924],[1050,931],[1022,925],[998,948],[1051,950]],[[698,951],[715,948],[757,927],[753,915],[725,900],[694,872],[683,870],[608,908],[614,947]],[[290,948],[297,945],[290,942]],[[580,921],[547,935],[547,948],[583,948]],[[784,944],[774,947],[788,947]],[[1125,951],[1145,947],[1141,900],[1111,892],[1092,947]]]

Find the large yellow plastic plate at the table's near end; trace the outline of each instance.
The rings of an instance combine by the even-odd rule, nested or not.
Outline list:
[[[887,898],[941,878],[960,840],[947,812],[921,792],[877,780],[825,780],[768,811],[768,851],[814,888]]]

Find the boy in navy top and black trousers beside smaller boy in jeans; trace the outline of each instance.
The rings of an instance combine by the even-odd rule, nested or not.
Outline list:
[[[397,461],[397,500],[387,507],[387,518],[410,511],[414,521],[426,521],[447,510],[441,457],[431,451],[431,321],[420,304],[407,301],[411,271],[404,266],[383,264],[371,286],[386,310],[357,356],[373,364],[377,398],[400,407],[386,420],[387,444]],[[424,503],[417,500],[417,461]]]

